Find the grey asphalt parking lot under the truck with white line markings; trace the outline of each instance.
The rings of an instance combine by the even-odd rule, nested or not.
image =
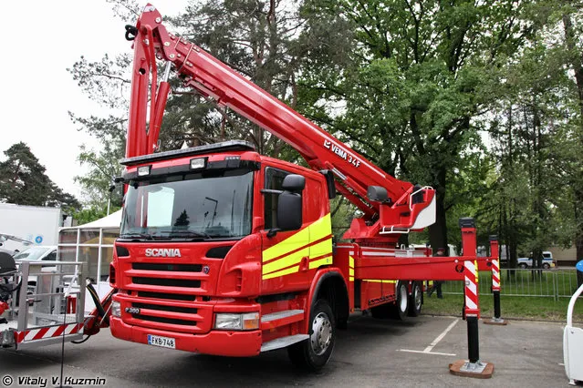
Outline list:
[[[80,381],[73,379],[96,379],[91,385],[569,386],[562,365],[562,326],[480,322],[480,358],[495,365],[489,380],[449,373],[450,362],[467,358],[466,322],[455,317],[421,316],[409,322],[353,317],[349,330],[338,334],[332,360],[318,374],[298,371],[285,350],[224,358],[122,342],[106,330],[83,344],[66,343],[64,385],[77,386]],[[60,362],[61,345],[35,351],[0,349],[0,387],[42,386],[43,381],[34,378],[47,379],[45,386],[58,385]]]

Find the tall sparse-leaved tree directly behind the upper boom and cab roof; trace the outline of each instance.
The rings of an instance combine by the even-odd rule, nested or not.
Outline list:
[[[140,13],[132,0],[111,1],[115,11],[128,23],[135,23]],[[133,19],[133,20],[132,20]],[[249,0],[203,1],[187,7],[177,17],[164,16],[169,30],[202,46],[271,94],[292,107],[297,103],[296,75],[300,53],[295,48],[298,21],[297,8],[282,2],[257,3]],[[122,36],[120,34],[120,36]],[[103,206],[113,166],[123,155],[129,108],[130,50],[127,54],[100,61],[81,56],[68,69],[88,97],[109,107],[109,117],[78,117],[78,126],[105,145],[96,152],[83,148],[79,156],[90,167],[88,175],[78,177],[90,203]],[[297,153],[252,125],[234,112],[217,107],[211,99],[193,94],[182,87],[182,80],[171,79],[169,97],[162,122],[160,150],[181,148],[183,143],[199,146],[224,139],[245,139],[255,144],[258,152],[298,160]]]

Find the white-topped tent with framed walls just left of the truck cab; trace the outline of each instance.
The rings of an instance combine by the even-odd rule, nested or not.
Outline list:
[[[57,260],[84,261],[85,276],[103,298],[109,290],[109,263],[113,242],[120,236],[121,210],[99,220],[58,231]],[[93,310],[93,301],[85,298],[85,311]]]

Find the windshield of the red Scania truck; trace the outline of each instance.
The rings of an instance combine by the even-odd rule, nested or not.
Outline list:
[[[241,238],[251,232],[252,203],[248,169],[130,182],[120,239]]]

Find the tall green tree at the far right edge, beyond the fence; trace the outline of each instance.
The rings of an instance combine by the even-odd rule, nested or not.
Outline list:
[[[576,54],[574,40],[569,44],[574,31],[570,18],[578,17],[577,9],[580,2],[537,1],[527,6],[524,15],[531,34],[519,56],[501,69],[504,93],[487,124],[498,176],[491,187],[494,195],[484,204],[496,209],[511,266],[518,251],[532,252],[542,264],[542,250],[570,245],[581,225],[581,109],[573,62],[580,52]]]

